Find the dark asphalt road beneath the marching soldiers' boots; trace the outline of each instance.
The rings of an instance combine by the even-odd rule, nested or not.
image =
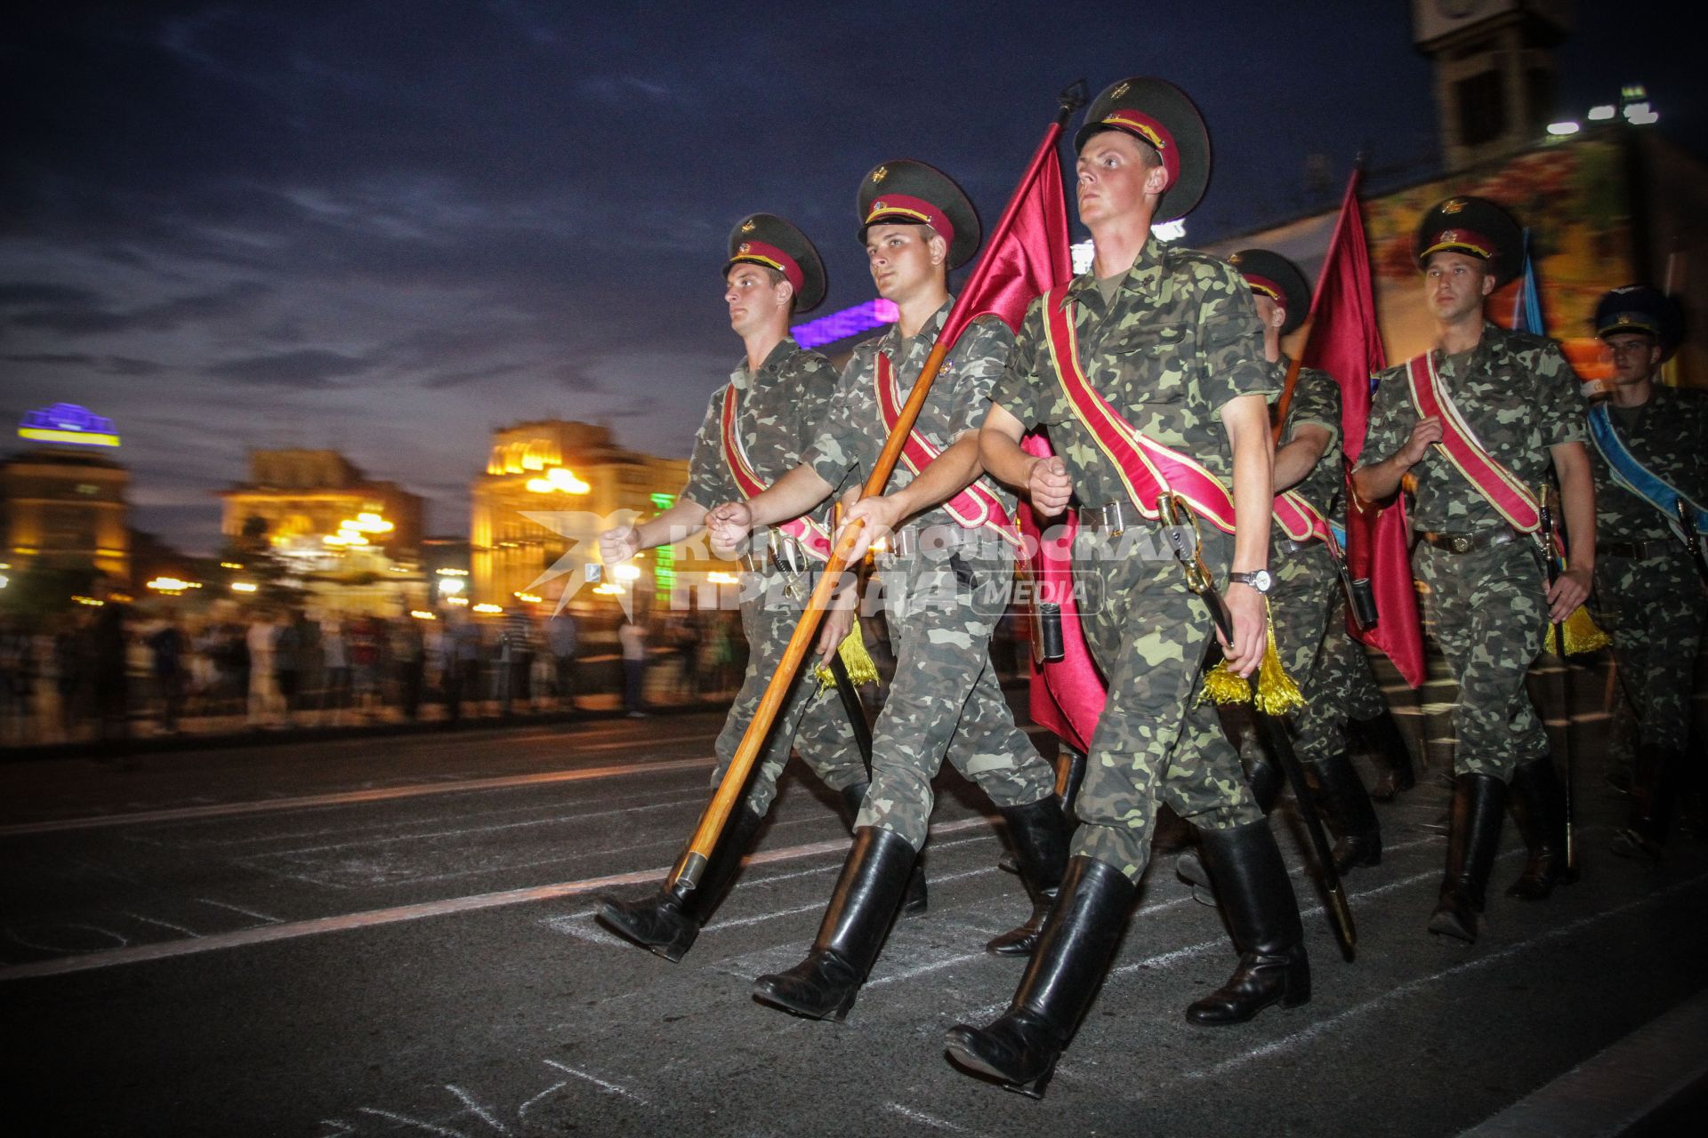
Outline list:
[[[1522,863],[1508,826],[1483,940],[1426,935],[1447,792],[1424,780],[1378,807],[1387,855],[1348,882],[1344,964],[1281,816],[1315,996],[1199,1029],[1180,1012],[1233,952],[1160,858],[1042,1102],[943,1058],[946,1027],[1006,1007],[1021,964],[980,949],[1027,911],[953,773],[931,911],[837,1025],[750,996],[804,952],[847,845],[794,768],[681,964],[591,920],[596,892],[673,862],[712,717],[0,766],[7,1133],[1455,1133],[1703,983],[1708,845],[1676,838],[1658,867],[1606,853],[1624,807],[1600,781],[1604,686],[1576,682],[1583,880],[1500,896]],[[1402,698],[1438,764],[1442,691]]]

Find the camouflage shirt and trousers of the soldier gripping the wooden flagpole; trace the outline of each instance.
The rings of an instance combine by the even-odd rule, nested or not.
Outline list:
[[[886,433],[874,391],[878,353],[890,357],[897,391],[905,398],[951,305],[953,300],[945,302],[917,336],[904,338],[900,328],[890,328],[854,348],[830,411],[801,456],[803,466],[830,485],[851,473],[869,476]],[[919,413],[921,437],[943,450],[962,432],[979,428],[1011,343],[999,321],[977,321],[962,333]],[[898,464],[890,490],[907,486],[912,478]],[[1013,510],[1013,495],[984,485]],[[931,778],[945,756],[999,807],[1047,797],[1056,788],[1056,771],[1015,727],[991,667],[991,631],[1004,602],[967,597],[968,590],[1006,597],[1013,551],[1001,539],[992,541],[989,531],[974,544],[933,548],[962,539],[960,524],[943,507],[909,519],[902,529],[914,531],[921,553],[883,570],[897,667],[873,730],[871,790],[856,827],[888,829],[919,850],[931,822]]]

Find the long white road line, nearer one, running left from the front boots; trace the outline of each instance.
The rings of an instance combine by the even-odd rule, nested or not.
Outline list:
[[[936,826],[934,831],[939,834],[953,834],[965,829],[974,829],[979,826],[991,826],[992,819],[975,816],[963,817],[955,822],[943,822]],[[770,865],[774,862],[793,862],[796,858],[818,856],[825,853],[840,853],[847,848],[847,838],[835,838],[832,841],[813,841],[799,846],[784,846],[781,850],[765,850],[748,856],[748,865]],[[243,928],[231,933],[210,933],[198,940],[169,940],[164,943],[150,945],[132,945],[125,949],[106,949],[99,952],[84,952],[79,955],[63,955],[53,961],[31,961],[29,964],[14,964],[0,967],[0,983],[9,979],[26,979],[31,976],[61,976],[65,973],[82,973],[96,967],[113,967],[118,964],[140,964],[145,961],[166,961],[179,955],[191,955],[196,952],[212,952],[215,949],[239,949],[256,943],[270,943],[275,940],[295,940],[299,937],[316,937],[319,933],[335,933],[352,928],[371,928],[376,925],[395,925],[398,921],[417,921],[429,916],[446,916],[449,913],[473,913],[478,909],[494,909],[511,904],[528,904],[533,901],[555,901],[559,897],[576,897],[589,892],[600,892],[603,889],[611,889],[617,885],[640,885],[646,882],[656,882],[664,874],[670,872],[668,865],[661,865],[647,870],[635,870],[632,874],[611,874],[608,877],[588,877],[584,880],[559,882],[553,885],[531,885],[526,889],[504,889],[499,892],[482,892],[466,897],[446,897],[444,901],[427,901],[422,904],[401,904],[389,909],[369,909],[366,913],[345,913],[342,916],[321,916],[307,921],[284,921],[278,925],[265,925],[261,928]],[[68,926],[70,928],[70,926]],[[92,930],[106,932],[106,930]],[[118,933],[106,933],[126,943]],[[12,933],[14,940],[17,935]],[[20,942],[22,943],[22,942]],[[39,947],[39,945],[29,945]],[[43,949],[51,952],[53,949]]]

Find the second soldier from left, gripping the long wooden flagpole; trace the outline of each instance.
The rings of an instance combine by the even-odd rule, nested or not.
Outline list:
[[[972,203],[939,171],[912,160],[873,169],[859,188],[861,241],[878,295],[900,322],[854,350],[799,466],[746,502],[714,508],[714,543],[791,517],[851,473],[864,479],[950,314],[948,271],[979,249]],[[909,874],[926,845],[931,778],[948,756],[1003,812],[1035,897],[1033,920],[992,940],[1030,952],[1061,882],[1066,831],[1056,771],[1013,720],[989,642],[1013,575],[1015,500],[979,479],[977,427],[1013,338],[996,319],[955,343],[904,447],[890,491],[849,508],[890,534],[885,614],[895,681],[873,734],[873,780],[818,938],[796,967],[760,976],[755,996],[796,1015],[842,1019],[878,957]]]

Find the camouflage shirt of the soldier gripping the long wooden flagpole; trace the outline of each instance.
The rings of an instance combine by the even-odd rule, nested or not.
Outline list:
[[[842,369],[842,380],[837,384],[830,411],[818,427],[813,445],[801,456],[803,466],[811,466],[820,478],[830,485],[842,485],[851,473],[861,481],[871,476],[883,450],[885,428],[883,413],[878,409],[876,372],[878,353],[890,357],[895,369],[895,387],[902,399],[914,389],[931,346],[938,341],[943,321],[948,317],[955,299],[950,297],[938,309],[917,336],[902,336],[900,326],[890,326],[881,336],[873,336],[854,348],[847,367]],[[1015,343],[1013,333],[997,319],[974,321],[960,334],[950,355],[943,360],[931,394],[919,409],[919,421],[914,430],[939,452],[948,449],[963,432],[979,430],[984,411],[991,401],[991,384],[1003,374],[1003,363]],[[852,481],[852,479],[851,479]],[[900,490],[914,481],[914,473],[905,462],[895,464],[886,493]],[[1015,496],[991,479],[982,479],[1013,514]],[[955,524],[948,510],[936,507],[915,515],[909,522],[917,527]]]

